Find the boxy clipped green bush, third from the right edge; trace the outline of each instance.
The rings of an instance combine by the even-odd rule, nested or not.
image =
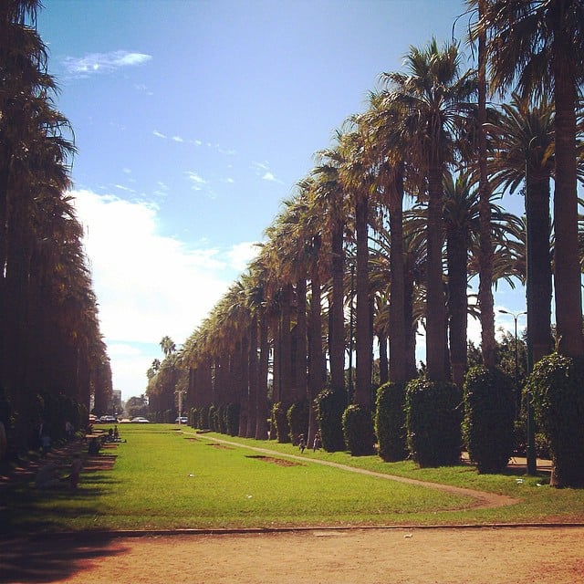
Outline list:
[[[406,389],[408,448],[421,466],[460,462],[461,399],[454,383],[420,377]]]

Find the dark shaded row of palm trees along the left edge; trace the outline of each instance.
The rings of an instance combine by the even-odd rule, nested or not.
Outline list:
[[[105,411],[111,394],[83,228],[68,194],[72,130],[53,103],[39,7],[0,4],[0,422],[13,452],[32,445],[39,422],[60,435],[64,410],[80,424],[90,395]]]

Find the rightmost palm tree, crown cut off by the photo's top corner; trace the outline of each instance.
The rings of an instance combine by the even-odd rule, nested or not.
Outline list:
[[[474,27],[475,36],[483,33],[489,35],[487,55],[494,89],[504,92],[517,82],[524,95],[553,93],[558,351],[582,357],[576,110],[583,78],[584,5],[580,0],[493,0],[486,3]]]

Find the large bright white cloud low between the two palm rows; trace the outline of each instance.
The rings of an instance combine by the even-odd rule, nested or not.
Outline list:
[[[158,233],[151,203],[72,194],[88,234],[85,249],[114,387],[124,399],[140,395],[151,361],[162,357],[160,339],[169,335],[181,345],[191,335],[238,276],[249,244],[225,252],[186,245]]]

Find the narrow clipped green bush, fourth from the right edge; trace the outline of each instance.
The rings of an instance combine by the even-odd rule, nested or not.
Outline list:
[[[379,454],[386,462],[405,460],[408,455],[405,429],[405,383],[389,381],[377,390],[375,434]]]

